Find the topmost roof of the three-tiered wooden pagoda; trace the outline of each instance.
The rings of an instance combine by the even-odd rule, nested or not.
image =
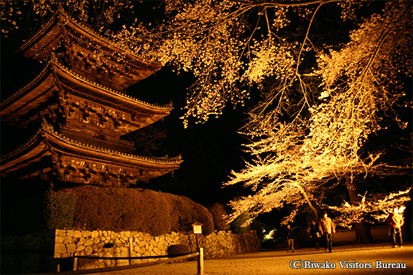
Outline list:
[[[43,61],[62,45],[70,48],[69,51],[65,50],[66,54],[70,52],[69,54],[73,55],[76,52],[77,56],[88,61],[98,60],[99,63],[103,63],[104,66],[99,65],[99,67],[116,68],[114,78],[105,83],[107,86],[113,83],[116,89],[125,89],[134,85],[162,67],[160,63],[147,61],[109,41],[70,17],[63,8],[60,8],[50,21],[21,45],[17,52],[37,61]],[[94,76],[96,74],[91,74],[89,78]]]

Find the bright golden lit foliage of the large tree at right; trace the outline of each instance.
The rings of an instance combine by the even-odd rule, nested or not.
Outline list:
[[[284,204],[298,207],[308,203],[315,211],[313,203],[320,201],[329,179],[350,177],[352,181],[361,173],[389,172],[388,164],[380,162],[380,153],[365,158],[360,153],[368,135],[381,130],[383,113],[392,114],[401,128],[407,126],[393,107],[410,104],[401,78],[411,77],[412,72],[412,8],[407,2],[388,2],[382,12],[361,23],[340,50],[326,47],[318,54],[318,69],[310,75],[322,77],[319,103],[305,106],[306,84],[300,81],[304,102],[292,122],[277,120],[279,107],[264,112],[270,104],[253,110],[246,133],[261,138],[247,147],[257,158],[240,173],[233,172],[227,184],[243,182],[257,191],[254,196],[231,201],[237,209],[234,217],[246,210],[256,216]],[[283,93],[288,88],[284,85],[275,91]],[[278,106],[281,104],[278,102]],[[304,109],[310,115],[306,116]],[[410,167],[411,159],[404,168]],[[402,167],[392,168],[397,173]],[[375,208],[363,208],[363,214],[391,207],[397,202],[394,200],[396,197]],[[364,198],[361,204],[352,203],[360,207],[371,201]],[[349,225],[360,221],[360,213],[338,219],[341,225]],[[286,221],[295,214],[293,211]]]

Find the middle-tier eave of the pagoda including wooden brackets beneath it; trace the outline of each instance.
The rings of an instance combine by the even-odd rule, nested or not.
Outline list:
[[[111,131],[119,132],[118,136],[156,122],[169,115],[172,109],[171,104],[150,104],[92,83],[57,61],[50,62],[28,85],[1,102],[1,119],[8,124],[25,126],[39,119],[39,112],[32,111],[39,107],[42,108],[40,113],[49,116],[56,117],[59,115],[56,112],[60,112],[67,120],[76,118],[83,121],[85,114],[78,110],[81,108],[82,112],[93,118],[89,123],[93,121],[96,126],[111,120],[108,126]],[[108,112],[112,113],[112,117],[106,115]],[[116,125],[120,127],[116,128]]]

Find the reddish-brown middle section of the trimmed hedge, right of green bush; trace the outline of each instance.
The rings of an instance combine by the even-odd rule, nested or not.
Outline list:
[[[136,230],[155,236],[171,230],[171,208],[160,192],[140,188],[81,186],[76,192],[76,228]]]

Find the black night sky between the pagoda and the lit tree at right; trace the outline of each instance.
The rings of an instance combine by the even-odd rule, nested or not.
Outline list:
[[[180,117],[184,114],[182,107],[190,84],[189,74],[177,76],[171,67],[164,67],[129,88],[129,94],[147,102],[173,102],[171,114],[160,122],[167,130],[167,138],[162,145],[169,157],[180,154],[184,162],[173,175],[151,180],[149,188],[156,190],[159,186],[164,192],[186,195],[203,204],[227,203],[244,191],[239,186],[222,188],[222,182],[229,179],[231,170],[243,167],[242,157],[248,157],[241,145],[247,140],[237,133],[246,119],[247,109],[229,106],[220,118],[211,118],[205,124],[192,122],[184,129]]]

